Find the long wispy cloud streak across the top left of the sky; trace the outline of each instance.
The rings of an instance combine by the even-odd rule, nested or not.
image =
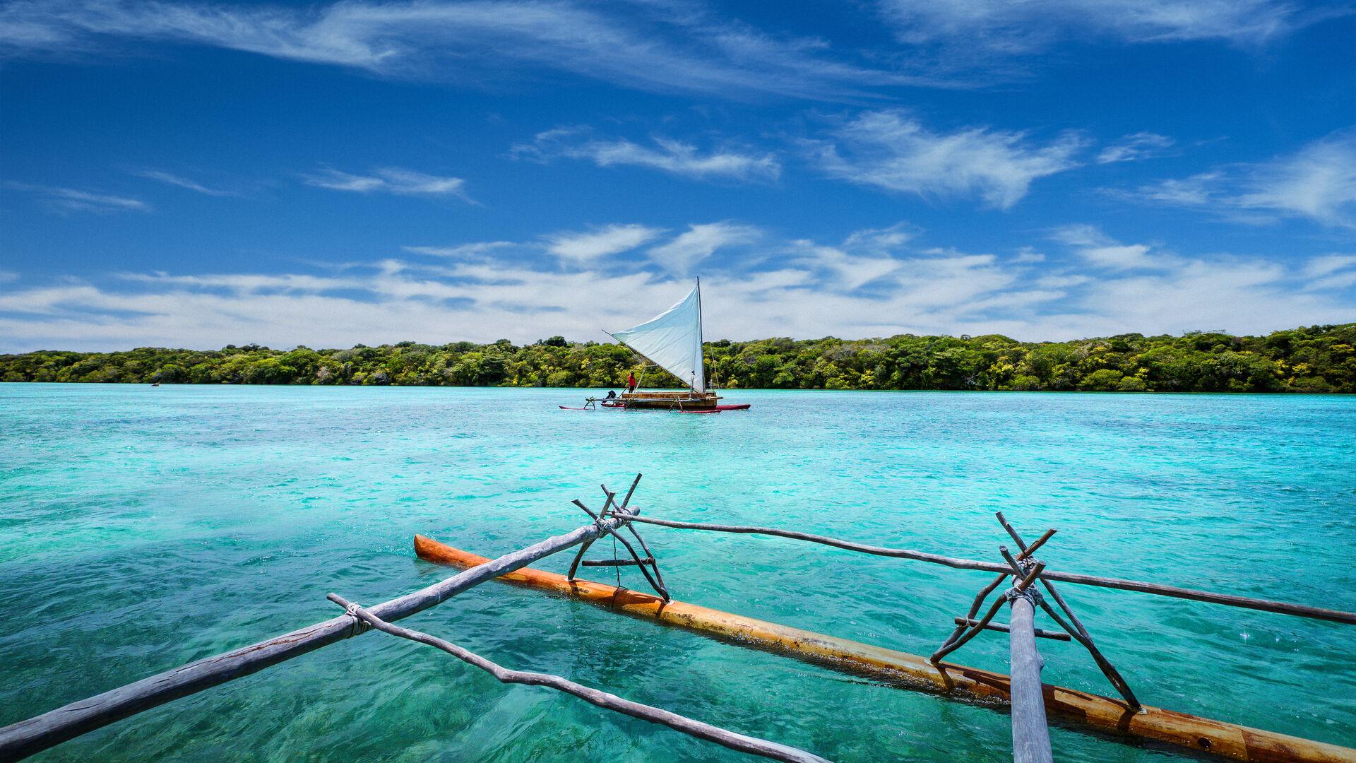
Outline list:
[[[822,39],[763,33],[697,8],[584,1],[350,0],[285,7],[16,0],[0,10],[9,54],[91,54],[106,41],[209,45],[385,76],[483,84],[514,69],[565,71],[645,90],[854,98],[926,73],[857,62]]]

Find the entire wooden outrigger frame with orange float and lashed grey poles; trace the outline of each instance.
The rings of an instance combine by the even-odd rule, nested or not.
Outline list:
[[[1018,553],[1013,555],[1005,546],[999,546],[998,553],[1003,559],[999,563],[960,559],[909,548],[866,546],[852,540],[789,529],[700,524],[650,516],[643,517],[637,508],[631,506],[631,498],[639,482],[640,475],[636,475],[631,483],[631,489],[620,501],[617,500],[617,494],[607,490],[607,486],[603,485],[603,508],[601,510],[595,512],[582,501],[574,501],[576,506],[590,515],[593,520],[590,524],[564,535],[548,538],[526,548],[504,554],[496,559],[477,557],[469,551],[462,551],[416,535],[415,554],[420,559],[464,567],[464,570],[414,593],[372,607],[362,607],[343,596],[330,593],[328,599],[343,607],[343,615],[225,654],[206,657],[5,726],[0,729],[0,762],[19,760],[172,699],[262,671],[263,668],[298,657],[336,641],[361,635],[369,630],[380,630],[399,638],[407,638],[441,649],[469,665],[490,672],[502,683],[555,688],[598,707],[664,725],[696,739],[708,740],[750,755],[793,763],[826,763],[824,758],[810,751],[740,734],[702,721],[686,718],[670,710],[632,702],[561,676],[513,671],[450,641],[393,625],[393,620],[441,604],[475,585],[500,578],[504,582],[598,604],[621,614],[655,620],[656,623],[711,634],[738,646],[762,649],[853,675],[871,676],[888,686],[928,691],[946,699],[976,702],[982,706],[1009,707],[1013,729],[1013,759],[1016,763],[1045,763],[1052,760],[1047,713],[1067,728],[1105,733],[1113,739],[1139,739],[1165,743],[1176,745],[1182,751],[1234,760],[1356,763],[1356,749],[1352,748],[1253,729],[1226,721],[1214,721],[1140,703],[1130,690],[1125,679],[1094,645],[1088,629],[1055,588],[1055,582],[1138,591],[1344,625],[1356,625],[1356,612],[1177,588],[1146,581],[1050,570],[1035,554],[1055,535],[1055,531],[1047,529],[1040,538],[1028,544],[1006,517],[1003,517],[1002,512],[997,515],[998,521],[1012,536]],[[654,551],[636,531],[637,524],[785,538],[877,557],[997,573],[997,577],[979,591],[967,615],[955,619],[955,630],[946,637],[937,652],[930,657],[921,657],[677,601],[669,593]],[[639,544],[639,551],[622,531],[629,534],[629,538]],[[631,558],[624,559],[614,554],[612,559],[584,559],[584,554],[590,546],[607,536],[620,542]],[[579,550],[567,574],[530,569],[527,566],[575,546]],[[620,567],[635,566],[644,574],[645,581],[654,588],[655,593],[650,595],[629,591],[620,585],[613,587],[578,580],[575,576],[580,566],[614,567],[618,572]],[[984,600],[1005,582],[1009,584],[1009,588],[998,596],[983,616],[976,619]],[[1037,592],[1036,584],[1044,588],[1055,606],[1051,606]],[[1009,608],[1009,623],[993,622],[1005,604]],[[1056,606],[1059,611],[1056,611]],[[1037,607],[1050,615],[1062,629],[1062,633],[1035,627],[1033,616]],[[942,661],[942,657],[955,652],[984,630],[1009,634],[1012,675]],[[1120,698],[1101,696],[1041,683],[1040,671],[1043,663],[1036,649],[1036,638],[1071,639],[1083,645],[1116,688]]]

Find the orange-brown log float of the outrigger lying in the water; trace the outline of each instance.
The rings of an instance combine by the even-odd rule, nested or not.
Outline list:
[[[487,562],[460,548],[453,548],[422,535],[415,536],[419,558],[472,567]],[[757,646],[857,675],[869,675],[904,688],[932,691],[953,699],[983,703],[1009,703],[1009,677],[1003,673],[980,671],[942,663],[934,667],[926,657],[907,654],[835,638],[800,629],[781,626],[708,610],[696,604],[670,601],[583,580],[570,581],[561,574],[523,567],[500,580],[551,591],[609,607],[618,612],[667,623],[677,627],[715,634],[740,645]],[[1185,713],[1158,707],[1144,707],[1142,713],[1130,710],[1124,702],[1063,688],[1043,686],[1045,711],[1069,726],[1085,726],[1098,732],[1169,743],[1197,752],[1253,762],[1313,762],[1356,763],[1356,749],[1311,741],[1306,739],[1252,729],[1223,721],[1212,721]]]

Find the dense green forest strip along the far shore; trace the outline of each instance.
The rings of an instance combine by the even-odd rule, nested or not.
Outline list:
[[[708,377],[725,388],[1088,390],[1120,392],[1356,392],[1356,323],[1265,337],[1192,331],[1071,342],[984,337],[758,339],[706,343]],[[645,387],[678,382],[624,346],[552,337],[518,346],[400,342],[346,350],[141,348],[114,353],[0,354],[0,382],[165,384],[431,384]]]

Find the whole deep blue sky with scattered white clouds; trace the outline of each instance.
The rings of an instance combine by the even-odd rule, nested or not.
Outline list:
[[[0,352],[1356,320],[1356,5],[0,1]]]

